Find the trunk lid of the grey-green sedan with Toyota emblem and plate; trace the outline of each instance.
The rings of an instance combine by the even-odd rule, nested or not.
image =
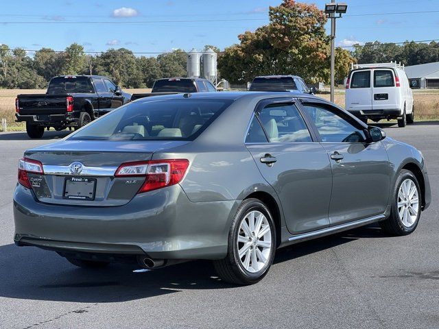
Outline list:
[[[43,164],[44,175],[28,173],[37,199],[47,204],[121,206],[141,188],[144,177],[115,177],[125,162],[151,160],[155,151],[187,141],[62,141],[25,152]],[[61,146],[62,145],[62,146]]]

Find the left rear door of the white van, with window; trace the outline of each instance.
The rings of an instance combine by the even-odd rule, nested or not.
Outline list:
[[[357,70],[351,73],[351,79],[346,89],[346,110],[372,110],[372,88],[370,88],[372,70]]]

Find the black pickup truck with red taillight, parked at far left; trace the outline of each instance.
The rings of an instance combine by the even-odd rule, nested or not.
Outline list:
[[[30,138],[40,138],[45,128],[75,130],[130,101],[108,77],[62,75],[53,77],[45,94],[18,95],[16,122],[25,121]]]

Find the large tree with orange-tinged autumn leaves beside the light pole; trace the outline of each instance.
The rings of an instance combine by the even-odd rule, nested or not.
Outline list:
[[[240,44],[225,49],[218,61],[222,77],[245,83],[257,75],[294,74],[307,82],[327,82],[330,37],[324,28],[324,12],[316,5],[284,0],[270,7],[269,18],[268,25],[239,35]]]

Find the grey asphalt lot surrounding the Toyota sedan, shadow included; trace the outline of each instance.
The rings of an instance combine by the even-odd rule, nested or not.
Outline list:
[[[394,238],[368,227],[281,249],[251,287],[219,282],[207,262],[88,272],[15,247],[16,160],[51,140],[0,134],[0,327],[439,328],[439,122],[385,130],[422,150],[429,167],[433,204],[416,232]]]

